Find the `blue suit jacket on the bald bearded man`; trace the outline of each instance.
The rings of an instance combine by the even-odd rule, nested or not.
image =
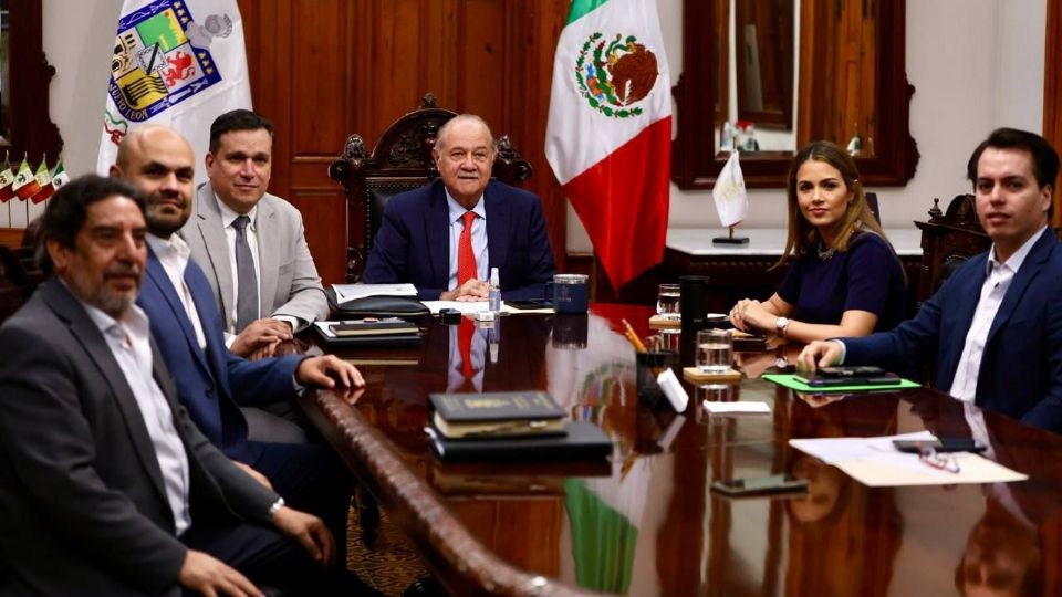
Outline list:
[[[239,406],[261,405],[295,397],[295,368],[301,357],[250,362],[225,346],[221,318],[210,284],[195,261],[188,261],[185,283],[196,303],[206,352],[155,252],[148,248],[140,305],[152,321],[152,335],[166,365],[176,375],[177,395],[191,420],[229,457],[251,463],[260,444],[247,441],[247,420]]]

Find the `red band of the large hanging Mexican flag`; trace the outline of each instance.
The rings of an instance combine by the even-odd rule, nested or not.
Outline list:
[[[664,260],[670,164],[667,116],[564,185],[615,290]]]

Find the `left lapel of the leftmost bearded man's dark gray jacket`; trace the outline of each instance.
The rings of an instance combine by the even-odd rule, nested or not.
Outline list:
[[[155,454],[155,446],[152,443],[147,426],[144,423],[144,415],[140,412],[140,407],[136,404],[133,390],[125,381],[125,373],[122,371],[122,367],[111,353],[111,347],[103,337],[103,333],[59,279],[53,276],[44,283],[42,290],[44,301],[59,317],[67,322],[71,335],[81,344],[85,354],[100,369],[101,379],[111,388],[118,411],[125,420],[129,440],[136,448],[136,458],[150,478],[155,490],[166,500],[163,473],[158,468],[158,460],[152,458]]]

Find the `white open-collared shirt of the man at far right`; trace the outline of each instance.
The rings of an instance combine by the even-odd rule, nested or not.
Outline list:
[[[1047,227],[1044,227],[1047,228]],[[988,341],[988,332],[992,328],[992,322],[999,312],[999,305],[1010,289],[1010,283],[1014,280],[1014,274],[1021,268],[1021,264],[1032,250],[1032,245],[1040,240],[1043,233],[1041,228],[1035,234],[1029,238],[1014,254],[1000,263],[996,260],[996,245],[988,252],[988,262],[985,264],[987,275],[981,285],[981,296],[977,302],[977,308],[974,311],[974,320],[970,321],[970,329],[966,334],[966,344],[962,345],[962,355],[959,357],[959,365],[955,369],[955,378],[951,380],[951,389],[948,390],[952,397],[966,402],[972,402],[977,396],[977,374],[981,369],[981,356],[985,354],[985,343]]]

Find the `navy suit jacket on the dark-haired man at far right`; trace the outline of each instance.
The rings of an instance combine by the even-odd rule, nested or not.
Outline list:
[[[936,387],[955,380],[986,277],[988,253],[964,264],[896,329],[844,338],[846,364],[900,367],[936,355]],[[977,376],[977,406],[1062,433],[1062,247],[1050,229],[1033,244],[992,321]]]

